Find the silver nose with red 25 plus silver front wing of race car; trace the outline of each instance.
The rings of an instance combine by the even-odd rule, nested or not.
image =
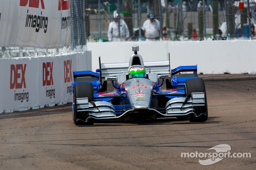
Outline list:
[[[124,82],[124,92],[130,99],[131,109],[123,114],[116,116],[115,107],[106,101],[91,101],[88,98],[76,99],[77,112],[88,112],[90,119],[114,120],[122,119],[126,115],[140,112],[148,112],[160,117],[177,117],[193,114],[195,117],[200,116],[195,113],[195,107],[206,107],[205,93],[191,93],[192,97],[176,97],[169,100],[165,105],[165,114],[150,108],[153,86],[155,83],[146,78],[132,78]],[[141,86],[142,85],[142,86]],[[134,88],[135,87],[135,88]],[[145,88],[147,87],[147,88]]]

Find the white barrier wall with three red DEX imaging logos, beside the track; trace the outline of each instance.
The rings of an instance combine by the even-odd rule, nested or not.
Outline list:
[[[0,59],[0,113],[71,102],[73,71],[91,70],[91,54]]]

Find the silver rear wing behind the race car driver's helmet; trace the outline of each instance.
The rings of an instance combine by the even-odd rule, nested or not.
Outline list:
[[[148,61],[143,62],[147,73],[170,74],[170,62],[167,61]],[[118,74],[127,74],[129,63],[101,63],[101,68],[97,72],[101,72],[102,77],[116,76]]]

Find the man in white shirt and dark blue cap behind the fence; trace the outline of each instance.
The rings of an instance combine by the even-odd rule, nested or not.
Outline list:
[[[143,31],[146,37],[146,41],[155,41],[159,39],[160,35],[160,22],[155,19],[155,14],[148,14],[148,20],[143,24]]]

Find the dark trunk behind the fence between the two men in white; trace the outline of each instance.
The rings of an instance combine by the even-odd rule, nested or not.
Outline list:
[[[132,11],[133,0],[123,0],[124,12]],[[124,22],[127,24],[130,36],[133,35],[133,22],[132,22],[132,12],[124,13]]]

